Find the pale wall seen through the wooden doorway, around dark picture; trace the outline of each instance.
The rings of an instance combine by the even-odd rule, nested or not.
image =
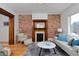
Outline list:
[[[9,22],[9,17],[0,14],[0,42],[9,42],[9,26],[4,26],[4,22]]]

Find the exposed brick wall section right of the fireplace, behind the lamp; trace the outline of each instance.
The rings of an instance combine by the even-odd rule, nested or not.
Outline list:
[[[57,33],[57,28],[60,27],[60,16],[49,15],[48,16],[48,37],[52,38]]]

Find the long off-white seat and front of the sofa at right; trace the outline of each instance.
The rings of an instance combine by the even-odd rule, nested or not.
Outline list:
[[[69,46],[68,42],[60,41],[60,40],[54,40],[54,42],[69,55],[77,56],[77,53],[76,53],[77,50],[74,49],[73,46]]]

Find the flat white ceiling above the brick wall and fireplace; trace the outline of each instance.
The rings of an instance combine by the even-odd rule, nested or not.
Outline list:
[[[71,3],[8,3],[7,6],[12,8],[18,14],[48,13],[60,14],[62,11],[71,6]]]

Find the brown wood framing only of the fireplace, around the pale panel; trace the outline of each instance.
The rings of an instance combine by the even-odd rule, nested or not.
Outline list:
[[[35,22],[44,22],[45,28],[35,28]],[[47,20],[33,20],[33,28],[32,28],[32,41],[35,42],[35,32],[36,31],[44,31],[45,32],[45,41],[48,40],[48,21]]]

